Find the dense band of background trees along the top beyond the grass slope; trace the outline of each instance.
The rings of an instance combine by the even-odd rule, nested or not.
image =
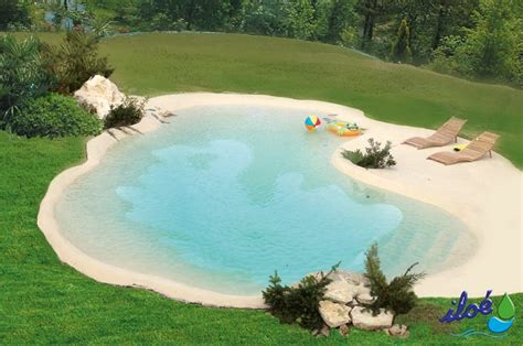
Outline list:
[[[395,63],[523,86],[523,1],[513,0],[84,0],[51,1],[97,35],[111,30],[226,31],[321,41]],[[113,28],[113,29],[109,29]]]

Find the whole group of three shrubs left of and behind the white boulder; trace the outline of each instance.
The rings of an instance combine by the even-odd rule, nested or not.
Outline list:
[[[94,75],[113,72],[96,45],[97,39],[83,31],[68,32],[61,46],[1,35],[0,129],[50,138],[98,133],[98,119],[73,98],[49,94],[71,94]]]

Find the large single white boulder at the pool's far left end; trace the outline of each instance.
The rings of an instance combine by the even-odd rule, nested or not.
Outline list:
[[[75,98],[81,104],[85,104],[96,109],[98,118],[104,119],[110,107],[121,105],[126,96],[118,90],[118,87],[106,77],[96,75],[74,93]]]

